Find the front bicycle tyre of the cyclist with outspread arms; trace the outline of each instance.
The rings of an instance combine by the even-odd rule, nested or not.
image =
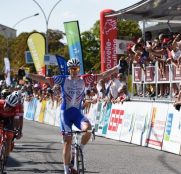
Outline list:
[[[76,168],[77,168],[77,172],[78,174],[84,174],[84,155],[82,153],[82,149],[80,148],[80,146],[77,146],[77,153],[76,153]]]

